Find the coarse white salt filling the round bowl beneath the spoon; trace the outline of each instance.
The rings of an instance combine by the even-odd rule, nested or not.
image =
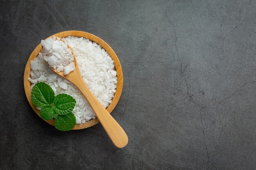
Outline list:
[[[117,88],[117,72],[110,55],[100,45],[86,38],[69,36],[62,39],[73,49],[85,84],[103,107],[108,107]],[[84,124],[96,117],[79,89],[54,73],[45,62],[42,53],[39,53],[34,61],[31,60],[29,81],[31,82],[31,89],[35,83],[45,82],[51,86],[55,95],[65,93],[74,97],[76,106],[72,113],[76,117],[76,124]]]

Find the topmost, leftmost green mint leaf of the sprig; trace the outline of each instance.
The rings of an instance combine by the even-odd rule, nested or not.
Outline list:
[[[40,108],[52,104],[54,100],[54,91],[46,83],[37,83],[31,91],[32,103]]]

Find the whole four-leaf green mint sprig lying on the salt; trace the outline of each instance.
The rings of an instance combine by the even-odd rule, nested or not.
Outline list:
[[[36,83],[31,91],[32,103],[40,107],[40,117],[51,120],[56,117],[54,126],[61,131],[71,130],[76,124],[72,113],[76,100],[67,94],[54,96],[54,91],[46,83]]]

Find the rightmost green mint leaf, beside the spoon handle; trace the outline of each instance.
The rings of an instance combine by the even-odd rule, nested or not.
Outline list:
[[[67,94],[56,95],[53,101],[54,111],[58,115],[67,115],[72,112],[76,104],[76,100]]]

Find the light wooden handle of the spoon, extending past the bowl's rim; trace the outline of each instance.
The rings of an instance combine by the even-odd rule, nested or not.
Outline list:
[[[97,115],[103,128],[108,133],[108,136],[112,142],[118,148],[123,148],[128,144],[128,136],[123,128],[117,123],[117,121],[108,113],[108,111],[102,106],[99,100],[92,94],[89,88],[86,86],[83,80],[76,81],[74,84],[79,88],[85,99],[88,101],[92,110]]]

